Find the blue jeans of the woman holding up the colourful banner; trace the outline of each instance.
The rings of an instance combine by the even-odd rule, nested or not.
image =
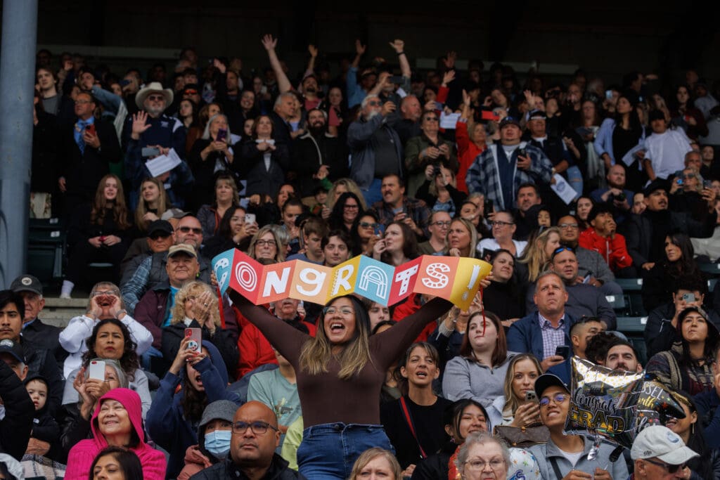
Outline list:
[[[346,480],[368,448],[395,453],[382,425],[325,423],[307,427],[297,448],[297,469],[312,480]]]

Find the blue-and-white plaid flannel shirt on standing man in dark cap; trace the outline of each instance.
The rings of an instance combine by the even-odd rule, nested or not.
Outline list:
[[[513,182],[513,204],[505,205],[503,201],[502,189],[510,188],[508,185],[500,184],[500,174],[498,172],[497,151],[503,148],[502,145],[490,145],[485,152],[480,153],[475,158],[465,175],[465,184],[468,191],[473,194],[480,192],[485,195],[486,200],[498,206],[498,209],[510,210],[516,208],[516,192],[522,184],[549,184],[552,179],[552,163],[545,153],[528,142],[520,142],[518,148],[524,148],[530,155],[531,165],[528,170],[518,170],[516,168],[515,178]],[[513,152],[513,157],[517,157],[518,150]]]

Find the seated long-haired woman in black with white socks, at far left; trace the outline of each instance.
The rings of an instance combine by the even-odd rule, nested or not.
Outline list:
[[[112,173],[100,180],[92,204],[76,209],[68,229],[70,258],[61,299],[69,299],[73,287],[83,279],[88,263],[112,263],[113,279],[120,278],[120,262],[130,242],[130,220],[122,181]]]

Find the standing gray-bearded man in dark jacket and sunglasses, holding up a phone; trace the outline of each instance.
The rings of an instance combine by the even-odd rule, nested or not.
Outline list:
[[[368,95],[361,104],[361,118],[348,127],[350,178],[360,187],[365,202],[382,200],[382,177],[402,179],[402,144],[391,122],[397,122],[395,103],[384,104],[377,95]]]

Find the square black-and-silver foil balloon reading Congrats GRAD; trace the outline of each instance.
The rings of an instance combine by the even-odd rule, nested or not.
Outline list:
[[[637,431],[637,402],[644,374],[614,371],[577,356],[571,362],[565,432],[599,436],[630,448]]]

